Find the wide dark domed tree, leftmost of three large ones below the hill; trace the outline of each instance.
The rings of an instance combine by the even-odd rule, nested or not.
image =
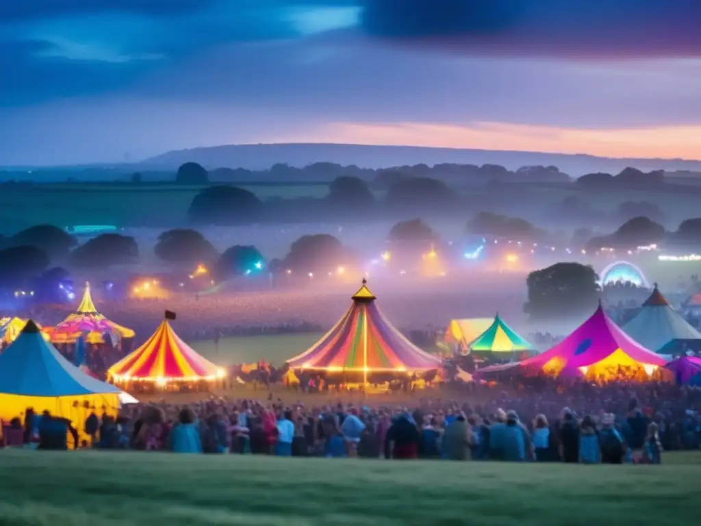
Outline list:
[[[250,191],[222,185],[200,191],[188,215],[198,224],[251,224],[261,219],[263,208],[261,200]]]

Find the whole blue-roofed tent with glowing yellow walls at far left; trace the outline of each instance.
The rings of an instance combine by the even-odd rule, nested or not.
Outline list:
[[[86,375],[46,342],[39,327],[27,322],[20,335],[0,354],[0,418],[20,417],[27,407],[41,414],[85,422],[86,403],[107,414],[119,408],[119,389]]]

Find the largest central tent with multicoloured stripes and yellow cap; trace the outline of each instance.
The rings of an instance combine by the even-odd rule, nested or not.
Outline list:
[[[438,369],[440,358],[418,349],[385,318],[367,281],[334,328],[308,351],[287,363],[295,370],[362,374],[411,373]]]

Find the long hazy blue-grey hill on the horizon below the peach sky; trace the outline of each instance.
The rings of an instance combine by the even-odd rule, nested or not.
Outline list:
[[[619,173],[632,166],[643,171],[701,171],[701,161],[684,159],[612,159],[592,155],[548,154],[536,151],[501,151],[363,144],[229,144],[169,151],[139,163],[144,170],[175,170],[194,161],[207,169],[245,168],[265,170],[276,163],[304,167],[328,162],[360,168],[426,163],[498,164],[508,170],[522,166],[557,166],[574,177],[585,173]]]

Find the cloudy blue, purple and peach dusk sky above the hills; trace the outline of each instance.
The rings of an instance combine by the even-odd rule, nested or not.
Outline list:
[[[699,0],[0,0],[0,166],[353,142],[701,159]]]

